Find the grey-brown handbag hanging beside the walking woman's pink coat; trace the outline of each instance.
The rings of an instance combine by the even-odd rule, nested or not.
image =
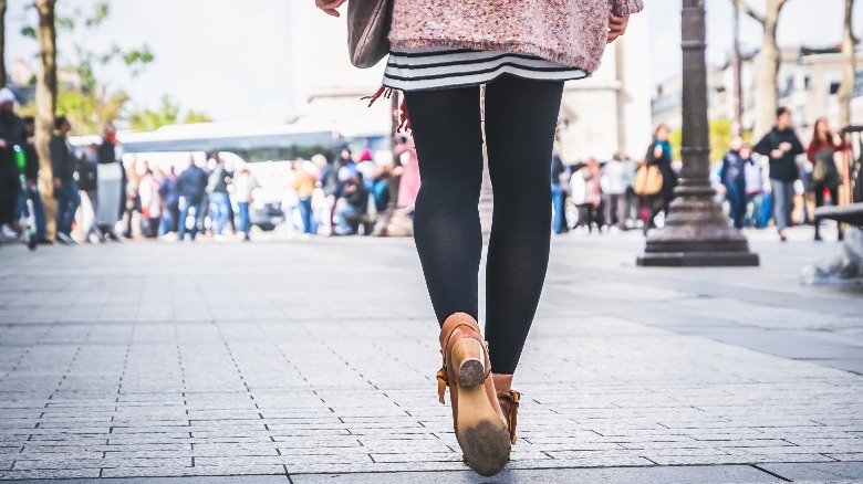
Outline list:
[[[351,63],[360,69],[376,65],[389,53],[393,0],[347,2],[347,50]]]

